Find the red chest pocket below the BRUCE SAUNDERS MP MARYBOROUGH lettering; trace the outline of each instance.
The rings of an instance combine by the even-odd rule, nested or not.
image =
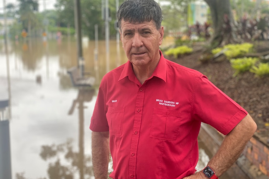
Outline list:
[[[150,137],[175,140],[179,132],[180,111],[153,109]]]

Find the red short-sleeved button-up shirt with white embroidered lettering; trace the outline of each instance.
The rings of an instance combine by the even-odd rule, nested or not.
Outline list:
[[[203,74],[161,54],[143,85],[129,61],[104,76],[90,129],[110,132],[111,178],[181,179],[196,171],[201,122],[226,135],[246,115]]]

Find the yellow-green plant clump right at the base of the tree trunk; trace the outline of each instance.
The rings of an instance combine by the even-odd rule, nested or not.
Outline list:
[[[249,53],[253,48],[253,44],[243,43],[243,44],[228,44],[223,48],[215,48],[211,52],[217,54],[221,50],[224,51],[227,59],[242,57],[244,54]]]

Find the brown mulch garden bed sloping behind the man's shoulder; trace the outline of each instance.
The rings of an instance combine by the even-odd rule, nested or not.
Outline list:
[[[267,45],[269,48],[269,42]],[[260,45],[261,48],[266,46]],[[228,60],[203,64],[199,61],[201,55],[201,52],[195,52],[178,59],[166,58],[203,73],[213,84],[247,110],[257,123],[255,136],[269,147],[269,76],[258,78],[254,73],[246,72],[233,77],[235,71]]]

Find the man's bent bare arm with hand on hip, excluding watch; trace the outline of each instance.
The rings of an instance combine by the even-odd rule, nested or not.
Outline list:
[[[221,176],[238,159],[247,142],[257,129],[256,123],[249,114],[246,115],[235,128],[225,136],[217,153],[210,159],[210,166],[215,174]],[[202,172],[185,177],[184,179],[205,179]]]

